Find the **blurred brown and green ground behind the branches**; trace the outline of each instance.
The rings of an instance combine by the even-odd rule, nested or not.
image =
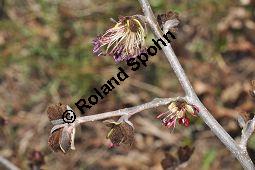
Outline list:
[[[155,14],[179,13],[181,24],[173,48],[202,102],[238,140],[237,113],[255,112],[248,93],[249,82],[255,79],[255,2],[150,3]],[[91,42],[113,26],[110,18],[133,14],[142,14],[135,0],[0,0],[1,156],[21,169],[161,170],[171,168],[178,148],[187,145],[194,151],[181,169],[242,169],[200,118],[193,119],[190,128],[179,126],[170,133],[155,119],[167,107],[132,117],[135,143],[130,149],[109,149],[108,128],[93,122],[77,129],[76,151],[64,155],[50,150],[47,106],[62,102],[79,113],[75,102],[88,98],[119,66],[126,68],[125,62],[115,64],[109,56],[93,55]],[[149,31],[148,46],[152,38]],[[129,71],[130,78],[86,115],[183,95],[161,52],[148,63],[146,68]],[[249,153],[254,161],[255,135]]]

